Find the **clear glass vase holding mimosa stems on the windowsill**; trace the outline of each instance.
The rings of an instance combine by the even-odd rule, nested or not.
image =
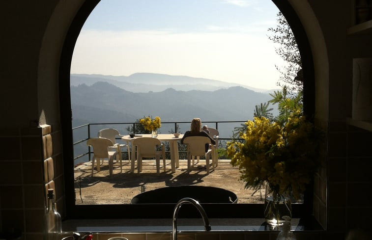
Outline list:
[[[266,188],[264,215],[265,221],[269,225],[283,225],[286,222],[283,216],[292,218],[292,206],[289,197]]]

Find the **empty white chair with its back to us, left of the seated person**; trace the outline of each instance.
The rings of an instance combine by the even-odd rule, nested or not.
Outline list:
[[[160,155],[163,157],[163,167],[165,171],[165,146],[155,137],[139,137],[133,140],[132,147],[137,146],[137,170],[142,171],[142,158],[155,158],[156,173],[160,174]],[[156,146],[161,146],[162,150],[157,151]],[[132,161],[134,159],[132,158]]]

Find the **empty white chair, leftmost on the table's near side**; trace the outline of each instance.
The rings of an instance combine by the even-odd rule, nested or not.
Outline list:
[[[123,171],[123,166],[121,162],[121,150],[119,146],[116,146],[116,151],[109,151],[109,147],[114,147],[114,143],[108,139],[103,137],[93,137],[89,138],[86,141],[86,145],[93,147],[93,157],[92,157],[92,176],[93,176],[93,170],[94,170],[94,161],[96,161],[97,165],[97,172],[99,172],[100,169],[100,160],[102,159],[108,159],[109,160],[109,172],[110,176],[113,175],[113,169],[114,169],[114,156],[119,156],[120,161],[120,172]]]

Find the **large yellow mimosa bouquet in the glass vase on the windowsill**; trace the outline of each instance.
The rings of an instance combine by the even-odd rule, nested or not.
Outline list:
[[[268,183],[279,194],[299,197],[319,165],[320,132],[300,111],[292,112],[283,125],[265,117],[254,117],[245,125],[239,133],[242,140],[227,143],[228,157],[239,166],[240,179],[247,188],[257,190]]]

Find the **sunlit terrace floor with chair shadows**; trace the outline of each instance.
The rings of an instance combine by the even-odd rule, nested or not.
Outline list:
[[[91,176],[91,162],[84,162],[75,167],[84,173],[81,176],[81,197],[79,194],[79,181],[75,181],[76,204],[130,204],[131,199],[141,193],[141,186],[145,190],[152,190],[159,187],[174,186],[211,186],[220,187],[234,192],[237,195],[238,203],[263,203],[261,194],[264,189],[254,192],[244,188],[244,182],[239,180],[239,169],[230,164],[230,160],[218,160],[218,166],[214,171],[206,174],[205,160],[199,163],[195,160],[195,166],[191,172],[187,172],[187,160],[179,160],[179,168],[171,172],[171,161],[166,161],[166,172],[162,168],[160,160],[160,175],[156,174],[155,160],[143,160],[143,171],[130,172],[130,163],[123,160],[123,171],[120,173],[120,165],[114,162],[114,173],[109,177],[107,160],[101,164],[101,171],[94,168]]]

